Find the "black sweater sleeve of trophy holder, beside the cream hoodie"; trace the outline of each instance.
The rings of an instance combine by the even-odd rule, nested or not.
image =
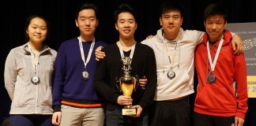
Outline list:
[[[147,52],[147,61],[145,61],[145,63],[147,66],[146,78],[148,82],[145,87],[145,93],[141,98],[141,102],[139,102],[139,105],[142,107],[142,109],[145,109],[146,107],[150,106],[150,104],[152,104],[156,92],[156,57],[151,48],[150,51]]]

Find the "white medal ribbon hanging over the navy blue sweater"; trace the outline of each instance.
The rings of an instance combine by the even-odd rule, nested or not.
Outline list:
[[[90,61],[90,58],[92,56],[92,50],[93,50],[93,46],[95,44],[95,38],[92,39],[92,44],[90,46],[90,50],[88,52],[88,56],[86,58],[86,61],[85,61],[85,54],[84,54],[84,48],[83,48],[83,44],[81,42],[81,36],[77,37],[78,41],[79,41],[79,47],[80,47],[80,53],[81,53],[81,58],[84,62],[84,65],[85,65],[85,69],[86,69],[86,66],[88,64],[88,61]]]

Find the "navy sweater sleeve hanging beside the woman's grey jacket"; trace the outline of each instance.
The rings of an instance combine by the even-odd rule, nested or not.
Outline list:
[[[62,101],[62,91],[66,73],[66,46],[62,44],[59,47],[55,60],[55,79],[52,86],[52,106],[55,112],[60,111]]]

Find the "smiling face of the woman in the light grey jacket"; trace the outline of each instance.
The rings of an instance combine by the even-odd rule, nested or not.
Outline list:
[[[41,44],[47,37],[47,24],[40,17],[35,17],[28,24],[26,33],[30,43]]]

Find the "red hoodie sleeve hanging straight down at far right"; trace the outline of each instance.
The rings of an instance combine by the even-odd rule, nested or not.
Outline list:
[[[247,67],[244,54],[235,55],[235,90],[237,110],[235,117],[245,118],[247,113]]]

